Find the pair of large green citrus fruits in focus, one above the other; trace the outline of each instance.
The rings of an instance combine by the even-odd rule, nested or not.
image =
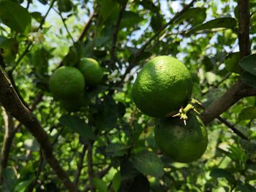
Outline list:
[[[189,70],[181,61],[165,55],[148,61],[132,86],[132,99],[138,109],[159,118],[154,129],[157,146],[181,163],[200,158],[208,145],[206,128],[194,112],[187,112],[186,124],[176,115],[187,106],[191,95]]]

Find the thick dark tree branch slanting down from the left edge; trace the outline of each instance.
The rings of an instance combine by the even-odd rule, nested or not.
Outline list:
[[[48,164],[50,164],[53,171],[56,172],[64,186],[68,188],[69,191],[77,191],[75,185],[71,183],[67,173],[64,172],[59,161],[53,155],[53,147],[50,144],[45,130],[42,128],[34,114],[22,104],[17,93],[12,87],[10,80],[8,80],[7,75],[1,67],[0,82],[0,101],[4,109],[14,118],[19,120],[20,123],[23,123],[23,125],[29,129],[31,134],[33,134],[35,139],[37,139],[37,142],[39,142],[39,145],[42,148],[45,159],[48,161]]]

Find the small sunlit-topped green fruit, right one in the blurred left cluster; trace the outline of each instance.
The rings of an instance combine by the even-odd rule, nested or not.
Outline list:
[[[83,73],[88,85],[97,85],[102,80],[103,70],[93,58],[82,58],[78,69]]]

